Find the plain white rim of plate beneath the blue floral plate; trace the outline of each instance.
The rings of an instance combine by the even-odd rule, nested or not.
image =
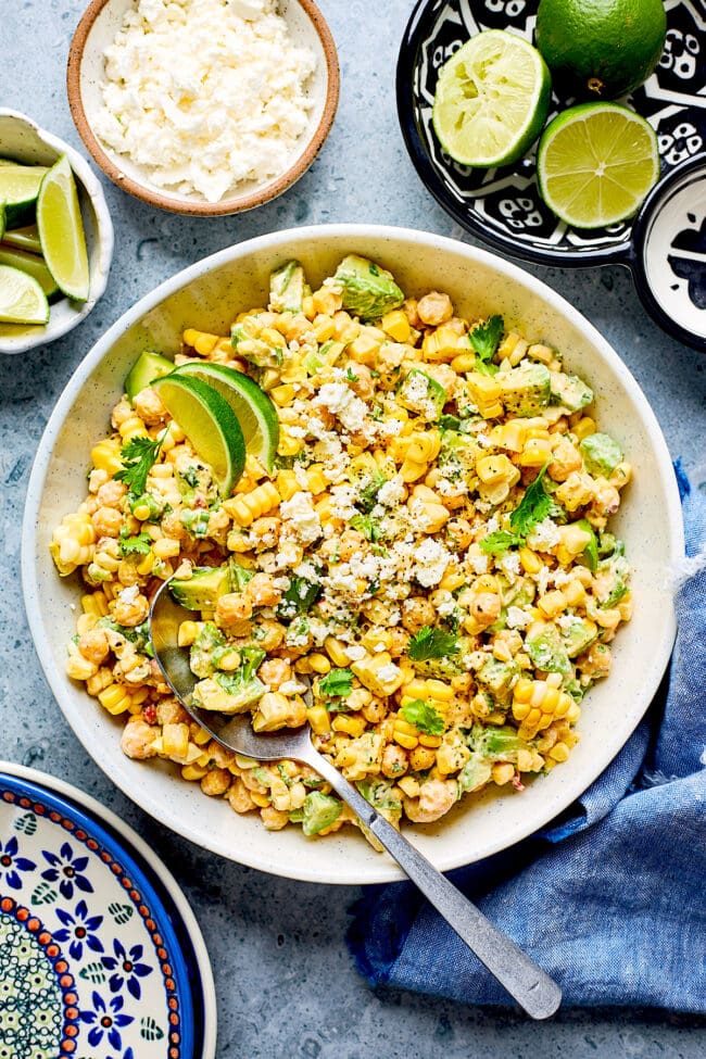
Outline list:
[[[0,773],[1,772],[4,772],[7,776],[14,776],[18,779],[27,780],[30,783],[36,783],[37,786],[43,787],[47,791],[61,795],[70,802],[76,803],[79,808],[86,809],[89,814],[91,814],[99,823],[106,823],[113,829],[113,831],[117,832],[117,834],[125,840],[127,855],[130,856],[134,850],[137,850],[139,856],[154,872],[154,875],[168,893],[181,918],[182,925],[189,936],[189,941],[193,946],[194,957],[199,967],[199,975],[203,995],[203,1036],[201,1042],[194,1041],[194,1059],[215,1059],[217,1014],[216,991],[213,981],[213,971],[211,969],[211,960],[209,958],[203,934],[201,933],[201,928],[199,926],[197,918],[191,911],[191,907],[187,902],[178,882],[164,861],[162,861],[157,855],[150,849],[144,840],[141,839],[139,834],[133,830],[133,828],[121,820],[121,818],[111,809],[108,809],[104,805],[101,805],[100,802],[91,797],[90,794],[86,794],[85,791],[81,791],[79,787],[73,786],[73,784],[66,783],[64,780],[60,780],[55,776],[51,776],[48,772],[26,768],[24,765],[16,765],[14,761],[0,760]],[[133,847],[131,849],[129,848],[130,846]],[[197,1050],[199,1046],[200,1050]]]

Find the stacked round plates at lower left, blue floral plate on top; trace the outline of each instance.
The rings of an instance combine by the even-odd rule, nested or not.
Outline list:
[[[135,832],[0,762],[0,1059],[213,1059],[199,926]]]

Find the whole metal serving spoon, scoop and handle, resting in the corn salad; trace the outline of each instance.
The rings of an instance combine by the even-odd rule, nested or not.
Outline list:
[[[252,730],[250,715],[223,717],[193,704],[197,678],[189,668],[189,655],[178,646],[179,626],[192,619],[191,612],[175,603],[165,581],[156,592],[150,610],[150,635],[164,678],[188,714],[218,743],[243,757],[260,761],[289,759],[310,765],[330,783],[365,827],[382,843],[409,879],[443,916],[468,948],[533,1019],[549,1019],[562,1003],[562,992],[514,942],[503,934],[461,891],[429,863],[363,797],[362,794],[315,749],[307,724],[273,734]],[[311,689],[308,691],[311,696]]]

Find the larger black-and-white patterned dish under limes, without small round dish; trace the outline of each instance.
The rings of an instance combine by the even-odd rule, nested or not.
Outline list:
[[[540,198],[534,152],[515,165],[470,169],[445,154],[431,127],[439,71],[471,35],[509,29],[532,40],[538,0],[419,0],[398,62],[398,112],[416,169],[440,204],[471,234],[514,256],[545,265],[619,261],[631,222],[580,231]],[[667,0],[667,43],[655,73],[631,97],[657,130],[663,176],[706,147],[706,2]],[[553,98],[553,116],[567,101]]]

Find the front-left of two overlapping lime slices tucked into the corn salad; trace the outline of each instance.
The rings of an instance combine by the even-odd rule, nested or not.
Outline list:
[[[222,496],[229,496],[245,466],[245,443],[235,412],[201,379],[176,373],[152,383],[196,453],[209,464]]]

